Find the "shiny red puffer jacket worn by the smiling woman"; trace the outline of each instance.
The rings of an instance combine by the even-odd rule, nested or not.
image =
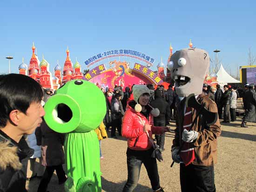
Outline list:
[[[138,116],[141,117],[143,123]],[[147,133],[143,131],[143,126],[146,123],[151,125],[151,131],[148,131],[151,139],[153,139],[152,133],[162,134],[162,127],[154,126],[153,115],[151,113],[149,114],[148,122],[148,119],[144,115],[135,112],[135,110],[129,106],[128,110],[124,113],[122,121],[122,136],[128,139],[127,144],[130,149],[144,151],[152,147]],[[136,138],[138,139],[136,145],[134,146]]]

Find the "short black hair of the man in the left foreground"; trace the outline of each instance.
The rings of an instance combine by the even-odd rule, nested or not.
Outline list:
[[[32,102],[40,102],[43,91],[38,82],[22,74],[0,75],[0,127],[7,125],[9,114],[18,109],[27,112]]]

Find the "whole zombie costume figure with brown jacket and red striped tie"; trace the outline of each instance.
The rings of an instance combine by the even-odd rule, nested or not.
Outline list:
[[[180,163],[182,192],[215,192],[214,164],[221,129],[216,104],[202,94],[209,54],[197,48],[182,49],[172,55],[168,69],[180,98],[172,159]]]

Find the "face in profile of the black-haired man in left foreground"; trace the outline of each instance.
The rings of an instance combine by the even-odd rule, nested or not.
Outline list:
[[[32,134],[36,127],[40,126],[42,117],[45,115],[41,102],[33,102],[27,109],[27,114],[21,114],[21,120],[18,128],[23,134]]]

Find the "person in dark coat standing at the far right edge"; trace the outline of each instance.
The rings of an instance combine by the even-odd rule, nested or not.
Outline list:
[[[249,90],[244,93],[243,105],[245,113],[241,127],[247,128],[247,121],[256,122],[256,92],[253,84],[250,84]]]

